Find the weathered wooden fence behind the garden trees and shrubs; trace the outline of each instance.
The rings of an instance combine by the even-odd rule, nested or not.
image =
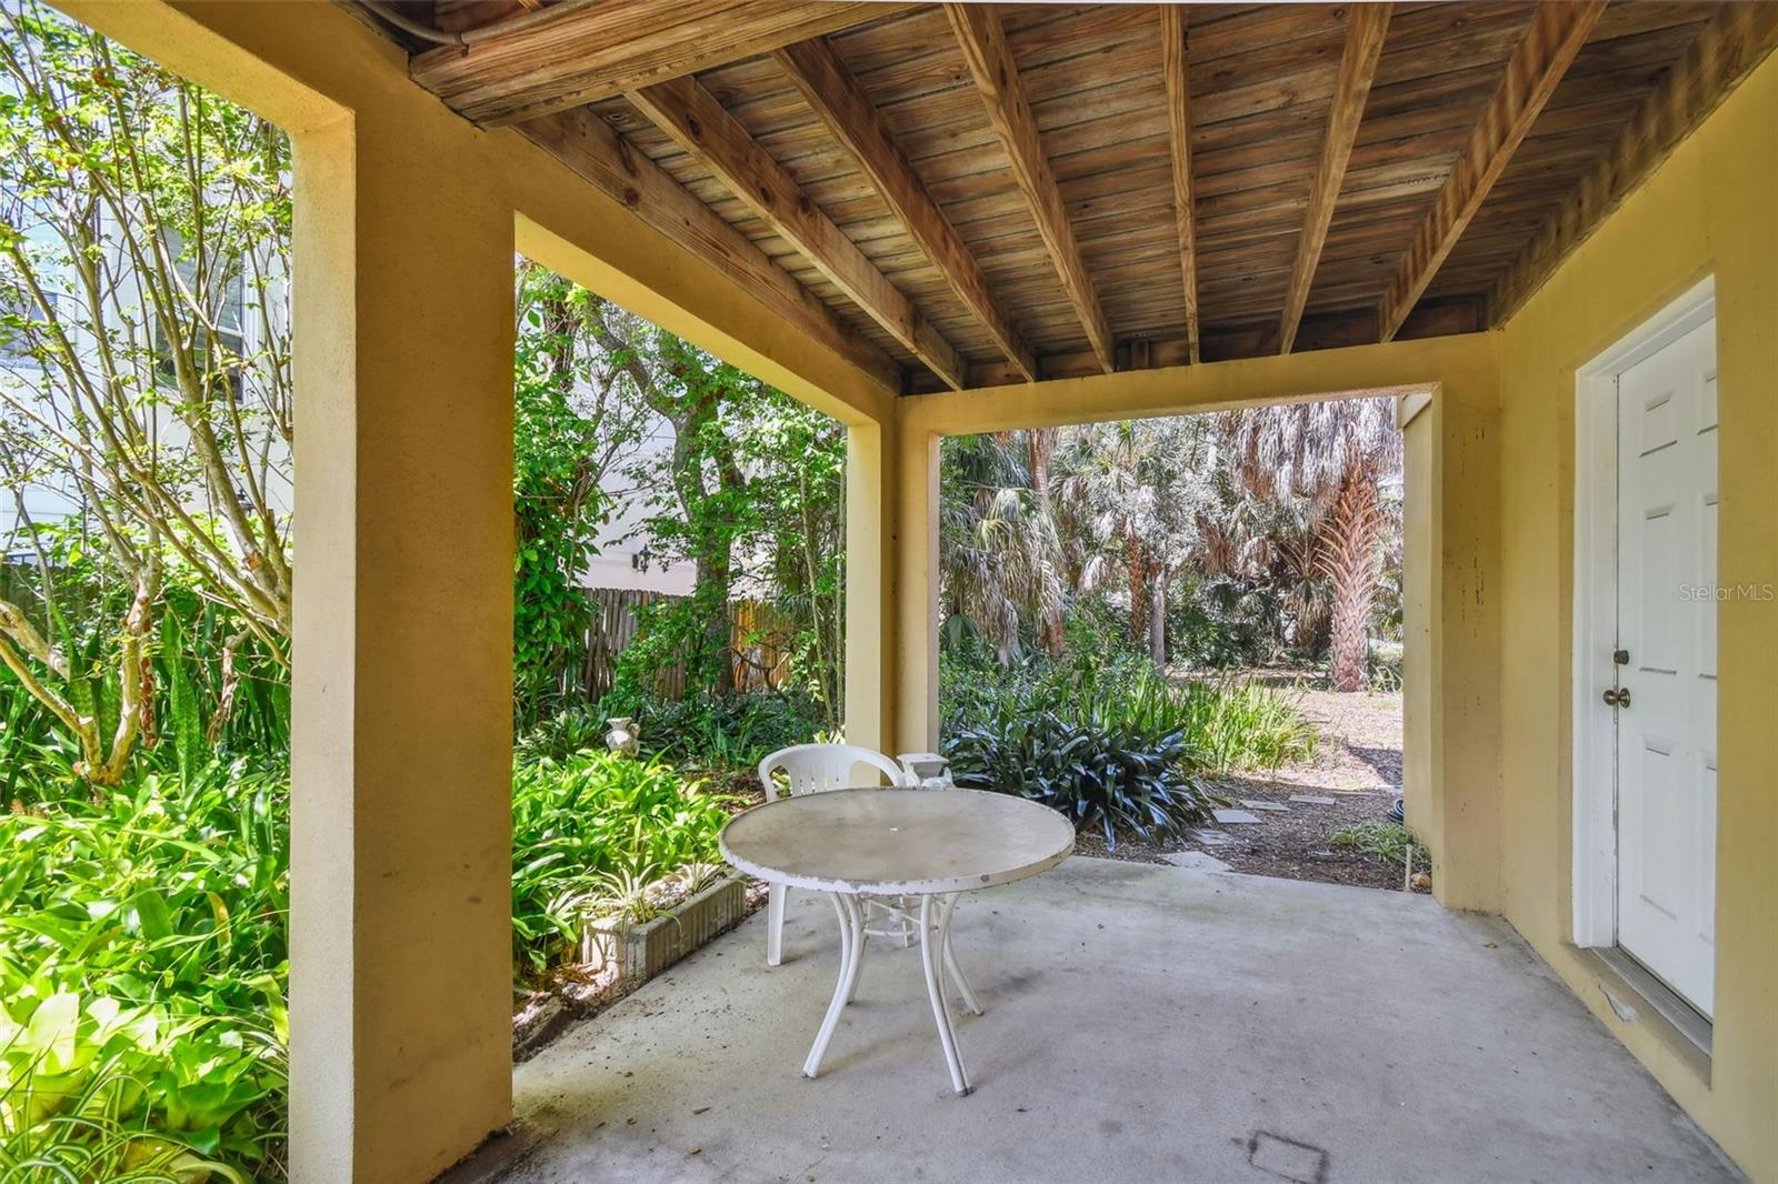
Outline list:
[[[573,699],[597,700],[612,690],[617,656],[635,640],[638,610],[645,604],[672,604],[683,597],[635,588],[594,588],[592,620],[581,638],[580,654],[562,665],[557,690]],[[729,645],[734,663],[734,688],[743,692],[779,690],[789,681],[789,654],[795,622],[770,604],[734,601],[729,604]],[[667,699],[685,693],[685,665],[672,663],[654,672],[654,690]]]

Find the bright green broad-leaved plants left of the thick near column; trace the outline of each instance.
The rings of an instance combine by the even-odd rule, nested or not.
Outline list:
[[[240,763],[0,816],[0,1166],[276,1170],[288,816]]]

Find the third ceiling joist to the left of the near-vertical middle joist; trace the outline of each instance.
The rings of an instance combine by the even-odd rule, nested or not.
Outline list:
[[[864,258],[846,233],[821,213],[795,178],[754,142],[747,128],[695,78],[674,78],[626,92],[686,153],[702,162],[736,197],[765,219],[809,263],[846,293],[949,386],[964,388],[967,370],[951,343]]]

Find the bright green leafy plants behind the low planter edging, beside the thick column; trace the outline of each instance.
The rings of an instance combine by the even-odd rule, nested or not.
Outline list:
[[[512,955],[542,974],[567,958],[612,876],[720,859],[731,798],[658,761],[580,752],[512,772]]]

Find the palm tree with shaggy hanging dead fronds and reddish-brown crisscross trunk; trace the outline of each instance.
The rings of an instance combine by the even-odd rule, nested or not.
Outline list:
[[[1246,492],[1305,501],[1314,565],[1330,585],[1334,690],[1362,690],[1389,521],[1378,485],[1401,469],[1394,407],[1383,398],[1282,404],[1230,412],[1225,434]]]

